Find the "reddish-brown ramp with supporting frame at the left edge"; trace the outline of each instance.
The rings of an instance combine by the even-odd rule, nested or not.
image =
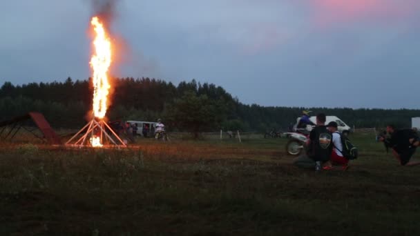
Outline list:
[[[37,134],[35,134],[35,132],[33,132],[33,130],[28,129],[25,126],[21,126],[21,122],[26,121],[28,119],[32,119],[32,121],[34,121],[35,125],[39,128],[44,137],[39,137]],[[6,128],[8,126],[10,126],[11,128],[7,132]],[[21,128],[23,128],[28,132],[31,132],[33,135],[35,135],[35,137],[38,137],[39,139],[46,139],[48,144],[61,145],[60,138],[54,132],[53,128],[51,128],[50,124],[48,124],[48,121],[45,119],[44,115],[42,115],[39,112],[29,112],[26,115],[15,117],[8,121],[0,121],[0,128],[0,137],[2,139],[13,139],[17,132]],[[3,134],[4,131],[6,132]]]

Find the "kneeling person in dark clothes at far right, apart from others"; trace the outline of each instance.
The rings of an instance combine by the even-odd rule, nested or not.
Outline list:
[[[412,129],[397,130],[393,125],[388,125],[386,131],[390,137],[381,137],[379,141],[385,142],[386,146],[392,148],[392,153],[399,160],[401,166],[420,165],[420,161],[410,161],[416,148],[420,146],[419,135]]]

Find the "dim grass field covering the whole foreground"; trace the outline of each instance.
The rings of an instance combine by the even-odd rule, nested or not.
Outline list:
[[[420,235],[420,166],[352,140],[350,170],[321,173],[287,139],[1,144],[0,235]]]

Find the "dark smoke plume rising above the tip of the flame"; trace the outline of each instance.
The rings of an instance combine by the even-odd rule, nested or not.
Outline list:
[[[109,26],[117,14],[117,3],[122,0],[90,0],[93,14]]]

